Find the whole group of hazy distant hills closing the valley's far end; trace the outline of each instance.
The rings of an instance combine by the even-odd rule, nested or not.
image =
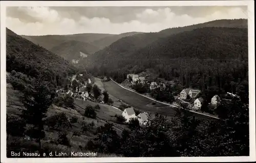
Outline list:
[[[91,55],[122,37],[139,33],[128,32],[119,35],[85,33],[23,37],[69,61],[75,61],[80,59],[80,54]]]

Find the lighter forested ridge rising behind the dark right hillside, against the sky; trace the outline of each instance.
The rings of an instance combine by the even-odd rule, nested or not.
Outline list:
[[[142,33],[129,37],[124,37],[112,43],[110,46],[104,48],[103,50],[96,52],[95,56],[92,56],[92,58],[96,58],[98,60],[101,58],[115,57],[116,55],[132,55],[139,49],[144,48],[146,45],[150,45],[151,43],[155,42],[160,38],[169,37],[174,34],[186,31],[193,31],[194,29],[204,27],[247,28],[247,19],[214,20],[198,25],[170,28],[160,31],[158,33]],[[90,64],[90,60],[88,60],[87,64]]]

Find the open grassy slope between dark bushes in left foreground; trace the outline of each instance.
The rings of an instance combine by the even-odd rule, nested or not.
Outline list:
[[[22,103],[19,102],[19,96],[22,94],[14,90],[12,86],[7,83],[7,114],[8,115],[18,115],[20,114],[20,108],[23,108]],[[95,106],[97,103],[94,102],[89,102],[89,101],[81,101],[81,100],[75,100],[76,105],[86,108],[87,105],[92,105]],[[104,105],[104,104],[99,104],[101,109],[97,112],[97,119],[90,119],[86,118],[83,116],[84,109],[80,107],[76,107],[74,110],[73,109],[66,109],[62,107],[57,107],[55,105],[51,106],[49,108],[49,111],[47,112],[48,116],[57,113],[57,112],[65,112],[67,117],[70,119],[72,117],[77,117],[78,122],[73,124],[72,128],[68,130],[68,137],[70,138],[71,146],[72,147],[67,147],[67,146],[62,146],[62,145],[55,145],[50,143],[51,140],[54,140],[58,136],[58,130],[54,129],[49,129],[46,127],[46,137],[42,141],[42,146],[44,148],[49,148],[52,149],[53,151],[62,151],[62,152],[71,152],[71,151],[81,151],[79,149],[79,145],[86,145],[86,143],[89,141],[89,139],[94,137],[94,132],[96,131],[96,127],[104,125],[106,122],[113,123],[115,126],[115,129],[117,133],[120,135],[122,130],[126,127],[125,125],[118,124],[115,121],[115,118],[112,118],[115,114],[121,114],[122,112],[120,110],[117,110],[111,106]],[[94,122],[95,127],[94,129],[91,129],[90,131],[83,132],[79,136],[72,136],[74,131],[81,131],[81,122],[87,122],[91,123]],[[10,139],[13,139],[15,137],[11,137]],[[16,143],[19,144],[19,146],[22,146],[23,148],[32,148],[32,146],[37,146],[36,143],[33,141],[25,141],[22,138],[15,138]],[[8,141],[7,143],[10,143],[12,141]],[[9,145],[12,147],[13,145]],[[99,154],[99,157],[119,157],[115,154]]]

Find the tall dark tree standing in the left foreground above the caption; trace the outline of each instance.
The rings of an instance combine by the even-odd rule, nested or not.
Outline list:
[[[26,109],[23,110],[21,116],[28,124],[33,125],[28,134],[36,139],[41,155],[41,139],[45,137],[45,121],[43,119],[53,101],[48,85],[48,82],[39,79],[34,83],[34,89],[24,91],[22,98]]]

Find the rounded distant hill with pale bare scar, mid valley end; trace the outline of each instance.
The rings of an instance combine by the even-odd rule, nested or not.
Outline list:
[[[98,48],[86,42],[71,40],[54,46],[50,51],[72,61],[78,60],[80,57],[87,57],[98,51]]]

